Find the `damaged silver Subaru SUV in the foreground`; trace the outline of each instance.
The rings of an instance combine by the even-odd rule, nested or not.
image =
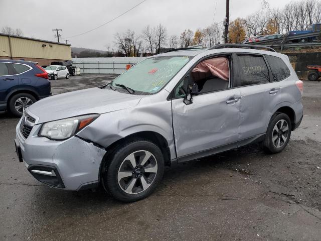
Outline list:
[[[303,82],[283,54],[228,46],[151,56],[104,86],[31,105],[16,128],[19,160],[50,186],[101,183],[130,202],[173,163],[254,142],[281,152],[302,119]]]

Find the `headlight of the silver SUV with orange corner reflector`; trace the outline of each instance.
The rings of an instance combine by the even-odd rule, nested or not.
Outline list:
[[[51,140],[68,139],[92,123],[98,116],[99,114],[88,114],[44,123],[38,136]]]

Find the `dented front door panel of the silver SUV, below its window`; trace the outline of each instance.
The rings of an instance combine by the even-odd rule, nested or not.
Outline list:
[[[172,99],[179,161],[237,147],[240,98],[236,88],[195,95],[189,105],[183,98]]]

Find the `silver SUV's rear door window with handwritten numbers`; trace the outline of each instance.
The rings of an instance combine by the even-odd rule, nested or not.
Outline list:
[[[264,84],[269,82],[269,71],[261,56],[239,55],[239,76],[234,86]]]

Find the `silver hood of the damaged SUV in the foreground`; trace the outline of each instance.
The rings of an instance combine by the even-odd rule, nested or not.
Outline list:
[[[106,113],[138,104],[140,95],[98,87],[57,94],[32,104],[26,110],[39,117],[38,124],[89,113]]]

